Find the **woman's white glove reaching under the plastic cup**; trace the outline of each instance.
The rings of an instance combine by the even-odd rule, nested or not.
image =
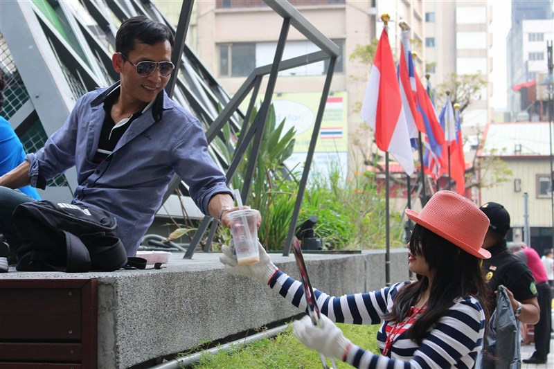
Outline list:
[[[262,244],[258,242],[258,251],[260,253],[260,261],[256,264],[238,265],[237,256],[233,255],[233,240],[229,242],[229,246],[223,245],[220,256],[220,262],[224,264],[223,270],[231,274],[240,274],[259,280],[262,283],[269,283],[269,279],[275,274],[278,268],[269,259],[269,255],[265,252]]]

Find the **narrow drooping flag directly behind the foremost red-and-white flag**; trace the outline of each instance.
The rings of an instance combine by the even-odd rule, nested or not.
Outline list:
[[[424,132],[422,117],[416,105],[416,84],[415,73],[413,70],[413,57],[411,55],[410,40],[408,31],[402,31],[402,48],[400,48],[400,62],[397,69],[398,84],[400,84],[400,96],[402,97],[402,107],[406,114],[406,124],[408,125],[408,134],[413,150],[418,148],[418,132]]]

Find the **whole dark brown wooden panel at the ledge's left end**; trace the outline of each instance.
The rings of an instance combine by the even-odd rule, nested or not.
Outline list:
[[[0,368],[94,369],[96,279],[0,279]]]

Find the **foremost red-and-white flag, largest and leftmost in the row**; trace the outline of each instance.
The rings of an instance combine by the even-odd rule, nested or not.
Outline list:
[[[380,150],[391,153],[406,174],[413,173],[413,156],[406,116],[402,108],[391,44],[383,28],[371,67],[361,118],[375,132]]]

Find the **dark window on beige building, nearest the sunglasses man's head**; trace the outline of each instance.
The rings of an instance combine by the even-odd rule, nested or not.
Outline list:
[[[256,44],[220,45],[220,75],[246,77],[256,67]]]

